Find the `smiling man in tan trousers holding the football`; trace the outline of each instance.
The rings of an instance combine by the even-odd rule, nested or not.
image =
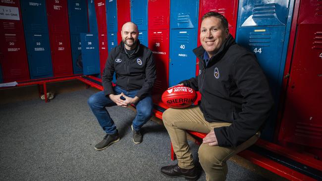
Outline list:
[[[179,84],[199,90],[201,102],[163,113],[178,164],[162,167],[161,173],[198,178],[186,137],[191,130],[208,134],[198,151],[207,181],[224,181],[226,161],[256,142],[273,99],[256,57],[235,43],[224,16],[208,12],[202,17],[200,41],[202,46],[193,50],[199,75]]]

